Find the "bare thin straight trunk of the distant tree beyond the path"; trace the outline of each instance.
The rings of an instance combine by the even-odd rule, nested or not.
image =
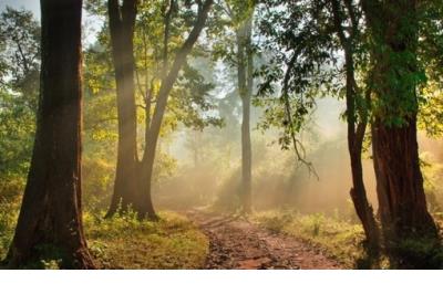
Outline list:
[[[254,56],[251,50],[253,15],[238,28],[237,32],[237,80],[241,98],[241,204],[245,213],[253,210],[250,144],[250,98],[254,86]]]

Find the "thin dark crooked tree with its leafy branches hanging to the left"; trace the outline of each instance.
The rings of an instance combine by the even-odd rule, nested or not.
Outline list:
[[[284,126],[289,129],[288,134],[290,135],[288,139],[284,138],[282,143],[288,144],[290,139],[293,143],[297,141],[293,135],[303,125],[303,116],[308,114],[312,105],[312,102],[306,103],[306,98],[312,98],[312,93],[313,98],[322,95],[324,90],[328,95],[346,93],[348,149],[352,177],[350,196],[362,222],[367,241],[370,248],[377,249],[379,229],[372,207],[368,201],[361,158],[370,114],[368,101],[371,90],[367,85],[359,86],[356,81],[356,75],[362,67],[359,63],[365,62],[362,55],[367,55],[362,54],[365,53],[365,50],[362,50],[364,48],[362,44],[364,43],[364,28],[359,21],[361,10],[353,1],[349,0],[297,3],[287,1],[285,6],[290,11],[290,17],[288,17],[279,9],[281,2],[268,2],[271,12],[265,14],[261,28],[265,34],[271,38],[277,35],[274,42],[279,44],[284,51],[284,53],[279,53],[280,56],[278,54],[277,56],[287,65],[285,74],[279,67],[270,72],[271,74],[269,74],[269,70],[264,71],[267,81],[274,82],[272,78],[276,76],[282,81],[282,99],[279,103],[282,102],[284,108],[286,108],[286,115],[282,117],[286,120]],[[268,17],[270,18],[268,19]],[[281,29],[276,29],[276,22],[282,23]],[[306,24],[301,24],[303,22]],[[290,54],[286,53],[288,50]],[[343,61],[337,57],[341,53],[344,53]],[[334,70],[336,67],[339,70]],[[334,78],[341,74],[344,75],[343,86],[340,81]],[[360,75],[364,74],[360,73]],[[260,91],[267,87],[268,84],[265,83]],[[344,91],[341,91],[342,87]],[[277,108],[271,117],[268,116],[268,120],[272,122],[274,117],[279,117],[280,109],[281,107]],[[297,145],[293,144],[295,147]],[[300,150],[302,154],[302,147]]]

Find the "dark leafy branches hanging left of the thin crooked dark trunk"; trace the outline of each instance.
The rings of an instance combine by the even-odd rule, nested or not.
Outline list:
[[[266,108],[259,127],[281,129],[282,149],[293,148],[313,174],[298,134],[315,109],[315,99],[334,81],[336,43],[327,2],[264,1],[258,9],[259,46],[270,56],[256,72],[262,83],[255,105]]]

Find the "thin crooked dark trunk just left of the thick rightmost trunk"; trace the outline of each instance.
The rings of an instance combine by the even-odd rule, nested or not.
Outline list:
[[[367,191],[363,181],[363,167],[361,160],[362,145],[364,133],[368,124],[368,111],[364,109],[362,102],[357,103],[358,95],[362,95],[357,88],[354,76],[354,57],[353,42],[358,33],[358,21],[353,13],[351,1],[344,0],[344,6],[348,10],[348,18],[351,19],[351,28],[349,36],[346,36],[342,25],[344,11],[341,9],[342,3],[339,0],[332,0],[332,14],[337,34],[341,46],[344,51],[346,66],[346,103],[347,103],[347,122],[348,122],[348,150],[351,161],[352,188],[350,196],[354,206],[357,216],[359,217],[368,244],[371,249],[377,249],[380,242],[380,232],[377,225],[375,217],[371,204],[368,201]],[[360,93],[359,93],[360,92]],[[365,95],[370,95],[370,90]],[[369,97],[367,97],[369,99]],[[358,106],[360,105],[360,107]],[[357,115],[360,114],[360,120],[357,122]],[[356,127],[357,125],[357,127]]]

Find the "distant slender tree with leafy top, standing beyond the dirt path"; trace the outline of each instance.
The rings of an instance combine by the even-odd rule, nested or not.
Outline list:
[[[240,198],[245,213],[250,213],[253,150],[250,107],[254,91],[253,24],[256,1],[226,0],[217,3],[218,21],[213,23],[214,55],[235,69],[237,96],[241,101],[241,181]]]

